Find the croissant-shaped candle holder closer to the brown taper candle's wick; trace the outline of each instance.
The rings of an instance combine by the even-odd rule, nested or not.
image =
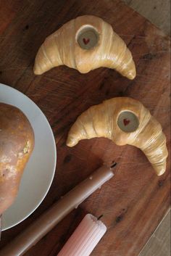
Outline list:
[[[162,126],[135,99],[118,97],[90,107],[70,128],[67,146],[93,137],[105,137],[117,145],[137,146],[146,154],[158,176],[166,169],[168,153]]]

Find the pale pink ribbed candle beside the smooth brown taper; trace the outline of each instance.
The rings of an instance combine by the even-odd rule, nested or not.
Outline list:
[[[88,256],[99,243],[107,227],[101,220],[87,214],[57,256]]]

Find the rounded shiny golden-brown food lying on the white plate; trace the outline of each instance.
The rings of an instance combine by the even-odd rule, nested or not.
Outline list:
[[[28,118],[17,107],[0,103],[0,215],[14,202],[33,146]]]

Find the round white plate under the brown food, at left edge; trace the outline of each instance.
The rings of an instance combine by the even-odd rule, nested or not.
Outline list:
[[[2,217],[4,231],[28,218],[46,197],[54,178],[57,152],[48,120],[32,100],[20,91],[0,83],[0,102],[22,110],[35,133],[35,147],[22,176],[20,191],[14,204]]]

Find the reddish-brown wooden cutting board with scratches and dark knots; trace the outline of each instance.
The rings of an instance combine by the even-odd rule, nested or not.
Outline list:
[[[133,53],[137,68],[135,80],[106,68],[83,75],[62,66],[40,76],[33,75],[36,51],[46,36],[79,15],[97,15],[112,24]],[[27,220],[4,231],[0,247],[102,162],[116,161],[114,178],[64,218],[25,256],[57,255],[86,212],[103,214],[102,220],[108,228],[92,256],[138,255],[170,205],[169,160],[167,172],[157,177],[143,153],[133,146],[91,139],[69,148],[65,142],[70,126],[88,107],[115,96],[131,96],[157,117],[169,148],[169,51],[169,39],[118,0],[1,1],[0,82],[22,91],[43,110],[57,142],[57,170],[41,206]]]

